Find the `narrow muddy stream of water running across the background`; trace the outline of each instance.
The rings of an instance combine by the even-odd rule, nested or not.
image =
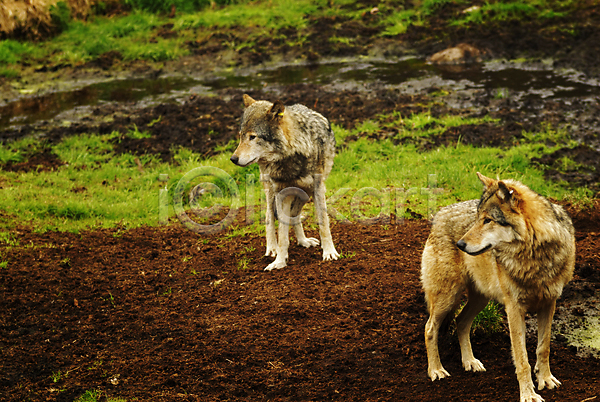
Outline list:
[[[81,115],[73,111],[106,103],[176,102],[191,94],[210,94],[225,88],[259,89],[297,83],[359,89],[366,84],[380,83],[409,94],[423,93],[432,88],[451,92],[484,90],[491,96],[510,96],[516,101],[531,97],[546,99],[600,96],[598,82],[586,80],[582,74],[574,71],[553,71],[543,63],[537,66],[509,62],[432,66],[416,58],[393,62],[331,60],[312,65],[287,64],[224,71],[211,77],[119,79],[97,82],[70,91],[23,96],[0,104],[0,130],[49,121],[64,114]]]

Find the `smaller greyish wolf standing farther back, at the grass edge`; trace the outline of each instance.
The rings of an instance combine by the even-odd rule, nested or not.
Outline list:
[[[314,247],[307,238],[300,212],[313,197],[323,260],[337,260],[325,204],[325,179],[333,167],[335,136],[329,121],[303,105],[284,106],[281,101],[256,101],[244,94],[240,144],[231,156],[238,166],[257,163],[266,193],[266,256],[276,257],[265,270],[287,265],[289,226],[294,226],[298,244]],[[296,190],[296,191],[293,191]],[[275,220],[279,217],[278,236]],[[285,218],[285,219],[283,219]]]

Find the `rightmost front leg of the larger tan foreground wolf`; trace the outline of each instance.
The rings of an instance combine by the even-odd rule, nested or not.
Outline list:
[[[552,300],[538,311],[537,363],[534,371],[537,373],[538,389],[540,390],[560,386],[560,381],[550,372],[550,330],[555,308],[556,300]]]

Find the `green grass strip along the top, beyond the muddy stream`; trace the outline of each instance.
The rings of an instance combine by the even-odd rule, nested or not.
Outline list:
[[[87,21],[73,20],[57,9],[53,15],[61,25],[61,34],[38,43],[0,41],[0,76],[16,78],[19,66],[26,64],[78,65],[109,51],[119,52],[126,62],[138,59],[164,62],[188,55],[188,43],[222,32],[234,33],[227,47],[235,52],[251,50],[256,41],[265,36],[302,47],[311,21],[332,17],[361,21],[371,10],[349,0],[126,0],[125,3],[132,9],[128,14],[92,15]],[[578,4],[576,0],[490,1],[469,13],[457,14],[449,25],[556,19],[567,15]],[[169,18],[167,14],[173,5],[177,14]],[[396,36],[405,33],[410,26],[428,26],[442,9],[456,5],[467,8],[469,2],[382,3],[377,17],[368,24],[377,27],[383,36]],[[96,9],[101,11],[101,8]],[[173,26],[175,37],[158,35],[166,24]],[[294,29],[296,34],[280,33],[288,28]],[[349,45],[352,41],[335,35],[330,40],[334,45]]]

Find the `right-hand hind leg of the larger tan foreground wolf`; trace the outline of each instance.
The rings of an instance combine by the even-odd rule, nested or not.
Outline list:
[[[460,344],[463,367],[466,371],[485,371],[483,364],[473,356],[473,349],[471,348],[471,325],[473,324],[473,319],[483,310],[488,302],[489,299],[487,297],[470,287],[467,304],[456,318],[458,343]]]

